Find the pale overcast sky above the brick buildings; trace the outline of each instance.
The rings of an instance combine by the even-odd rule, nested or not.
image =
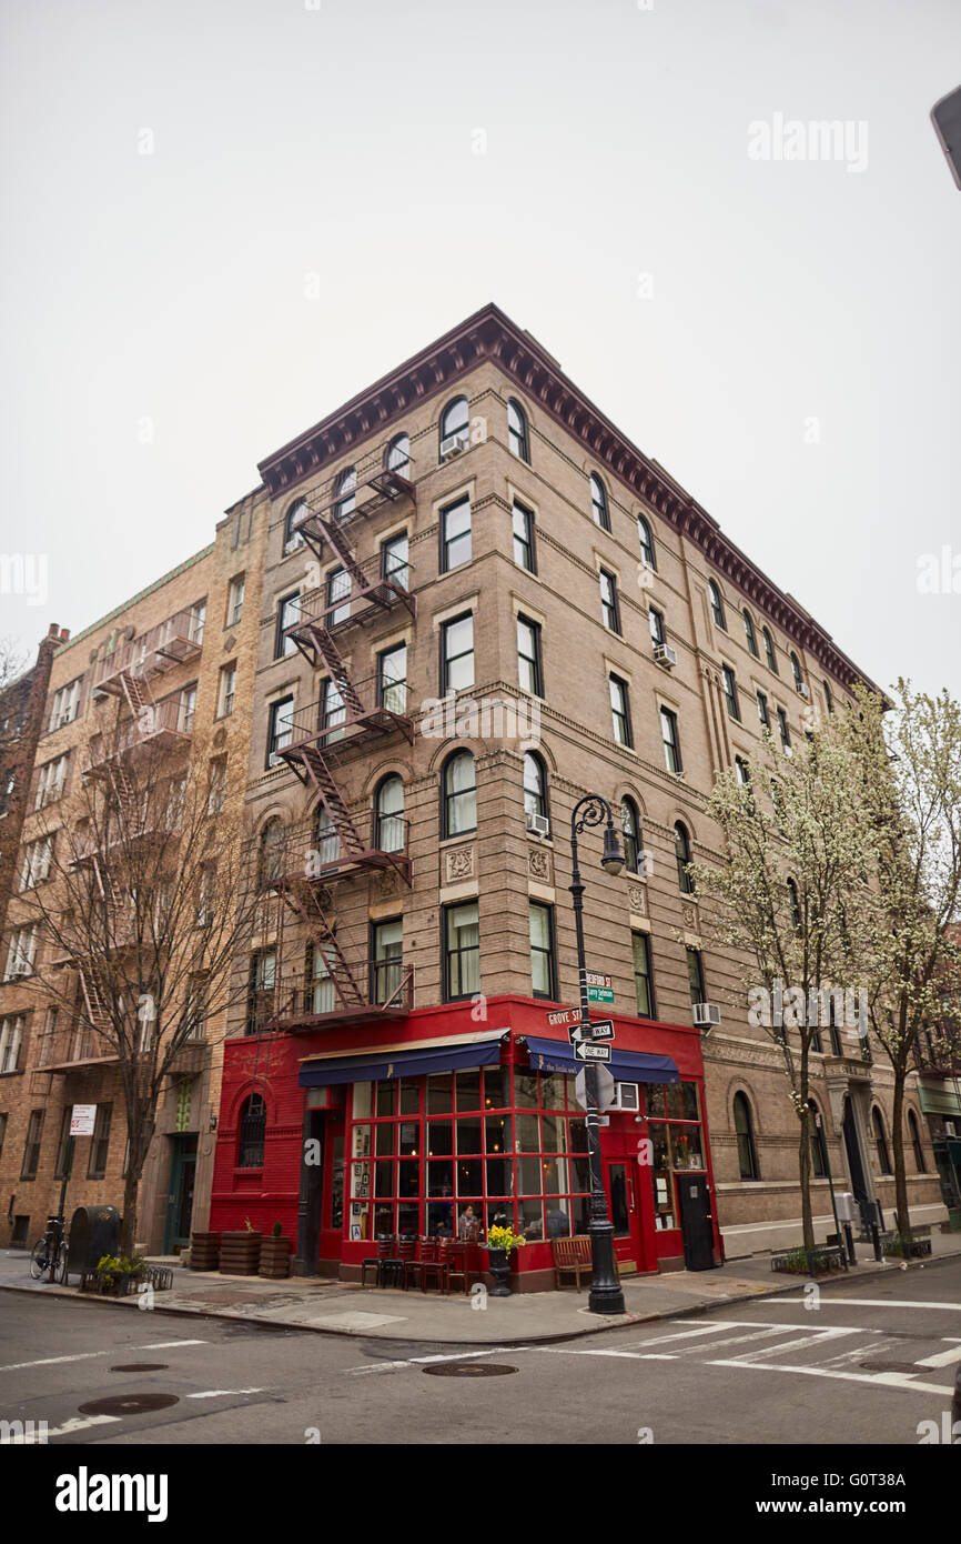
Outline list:
[[[961,695],[956,0],[0,17],[0,553],[48,560],[0,633],[113,610],[494,300],[868,676]]]

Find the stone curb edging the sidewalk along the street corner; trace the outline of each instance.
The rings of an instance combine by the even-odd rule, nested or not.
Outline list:
[[[958,1258],[961,1258],[961,1251],[956,1251],[953,1254],[938,1255],[938,1257],[935,1257],[932,1260],[926,1260],[924,1265],[921,1265],[921,1263],[918,1263],[918,1265],[909,1265],[907,1271],[924,1271],[926,1268],[927,1269],[933,1269],[938,1265],[947,1265],[949,1261],[958,1260]],[[882,1277],[882,1275],[884,1277],[890,1277],[892,1269],[895,1269],[895,1268],[893,1266],[876,1266],[875,1269],[867,1269],[867,1271],[864,1271],[864,1274],[859,1274],[856,1277],[856,1280],[872,1282],[872,1280],[876,1280],[878,1277]],[[899,1266],[898,1266],[898,1269],[899,1269]],[[841,1282],[850,1282],[851,1277],[850,1277],[848,1272],[845,1272],[844,1277],[836,1278],[836,1280],[838,1280],[838,1285],[841,1285]],[[384,1343],[387,1346],[389,1345],[403,1346],[403,1345],[426,1345],[426,1343],[430,1343],[430,1345],[444,1345],[444,1346],[464,1346],[464,1348],[469,1348],[469,1349],[491,1348],[491,1349],[506,1349],[506,1351],[509,1351],[509,1349],[514,1349],[514,1348],[517,1348],[520,1345],[552,1345],[552,1343],[557,1343],[557,1342],[561,1342],[561,1340],[583,1340],[586,1336],[595,1336],[602,1329],[626,1329],[631,1325],[649,1325],[649,1323],[657,1323],[659,1320],[665,1320],[665,1319],[690,1319],[694,1314],[703,1314],[705,1311],[710,1311],[713,1308],[731,1308],[736,1303],[756,1303],[759,1299],[787,1297],[788,1292],[796,1292],[802,1285],[805,1285],[805,1282],[804,1282],[802,1277],[799,1277],[796,1282],[791,1282],[787,1286],[771,1288],[770,1292],[739,1292],[739,1294],[736,1294],[733,1297],[716,1297],[716,1299],[711,1299],[710,1302],[691,1303],[691,1305],[685,1305],[682,1308],[671,1308],[671,1309],[665,1309],[663,1312],[657,1312],[657,1314],[617,1314],[617,1315],[611,1317],[609,1320],[605,1317],[603,1323],[591,1325],[589,1328],[583,1328],[583,1329],[555,1331],[555,1332],[549,1332],[549,1334],[537,1334],[537,1332],[534,1332],[534,1334],[529,1334],[529,1336],[523,1336],[523,1334],[521,1336],[511,1336],[507,1332],[506,1336],[500,1337],[497,1342],[492,1342],[492,1340],[467,1340],[467,1339],[433,1340],[430,1337],[430,1334],[424,1334],[424,1336],[410,1334],[410,1336],[404,1336],[404,1337],[401,1337],[401,1336],[383,1336],[383,1334],[378,1334],[376,1329],[332,1329],[327,1325],[298,1325],[298,1323],[293,1323],[293,1322],[288,1322],[288,1320],[284,1320],[284,1319],[268,1319],[268,1320],[265,1320],[265,1319],[256,1317],[255,1314],[217,1312],[216,1309],[210,1309],[210,1308],[154,1306],[151,1309],[151,1312],[153,1314],[170,1314],[171,1317],[179,1317],[179,1319],[225,1320],[227,1323],[233,1323],[233,1325],[253,1325],[255,1328],[259,1328],[259,1329],[264,1329],[264,1328],[267,1328],[267,1329],[295,1329],[295,1331],[302,1331],[305,1334],[315,1334],[315,1336],[333,1336],[333,1337],[336,1337],[339,1340],[379,1340],[381,1343]],[[831,1283],[825,1283],[825,1285],[833,1285],[833,1282]],[[32,1292],[32,1291],[35,1291],[35,1288],[12,1286],[8,1282],[0,1282],[0,1292]],[[52,1291],[51,1295],[52,1297],[59,1297],[59,1299],[72,1299],[74,1302],[85,1302],[85,1303],[89,1303],[89,1305],[97,1303],[100,1306],[103,1306],[103,1308],[117,1308],[117,1306],[122,1306],[122,1305],[126,1305],[126,1303],[130,1303],[131,1308],[137,1306],[137,1300],[136,1299],[128,1299],[128,1297],[116,1297],[116,1299],[114,1297],[99,1297],[99,1295],[96,1295],[93,1292],[80,1292],[80,1291],[77,1291],[77,1288],[62,1288],[62,1286],[57,1286],[57,1288],[54,1288],[54,1291]]]

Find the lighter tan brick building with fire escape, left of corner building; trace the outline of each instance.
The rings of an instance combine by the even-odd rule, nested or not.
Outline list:
[[[76,1016],[51,1010],[37,982],[63,967],[51,962],[52,951],[39,934],[20,931],[29,891],[45,882],[48,865],[35,855],[48,835],[57,843],[66,838],[63,828],[76,829],[83,812],[83,774],[113,755],[105,732],[111,706],[119,703],[122,713],[136,715],[140,696],[153,712],[147,741],[162,741],[171,769],[199,780],[207,777],[208,761],[217,760],[224,767],[222,806],[242,804],[264,534],[262,500],[255,494],[228,511],[213,545],[69,642],[63,635],[56,648],[0,957],[0,1028],[6,1038],[0,1192],[8,1201],[8,1241],[32,1243],[57,1207],[65,1112],[74,1104],[97,1106],[97,1129],[74,1143],[68,1217],[79,1204],[122,1206],[123,1200],[126,1119],[119,1064],[116,1056],[103,1056],[91,1030],[83,962],[71,967],[83,988]],[[177,1058],[160,1098],[139,1197],[137,1237],[151,1252],[184,1244],[191,1215],[193,1226],[207,1220],[222,1033],[222,1022],[205,1025],[204,1042]]]

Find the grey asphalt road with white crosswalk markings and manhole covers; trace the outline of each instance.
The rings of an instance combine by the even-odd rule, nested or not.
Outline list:
[[[481,1353],[0,1294],[0,1420],[46,1420],[49,1444],[918,1447],[921,1422],[942,1428],[958,1360],[958,1260],[831,1283],[814,1306],[799,1286]],[[130,1363],[153,1370],[117,1371]],[[426,1374],[457,1363],[478,1371]],[[140,1394],[174,1402],[80,1410]]]

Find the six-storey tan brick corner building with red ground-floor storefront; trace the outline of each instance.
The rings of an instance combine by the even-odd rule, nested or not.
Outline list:
[[[634,828],[615,880],[600,832],[582,838],[625,1085],[605,1132],[622,1268],[717,1258],[717,1223],[728,1254],[797,1241],[779,1058],[731,1007],[679,865],[720,858],[706,797],[754,753],[760,707],[799,736],[861,672],[494,306],[261,472],[248,798],[268,899],[211,1226],[279,1217],[301,1269],[346,1275],[376,1232],[458,1227],[467,1206],[531,1238],[583,1231],[571,1050],[546,1014],[577,1002],[569,817],[591,789]],[[449,692],[511,723],[444,721]],[[693,1002],[722,1008],[703,1045]],[[856,1033],[825,1042],[836,1184],[889,1209],[890,1078]],[[909,1187],[916,1221],[944,1215],[933,1164]],[[814,1212],[824,1237],[821,1177]],[[543,1243],[523,1266],[551,1280]]]

